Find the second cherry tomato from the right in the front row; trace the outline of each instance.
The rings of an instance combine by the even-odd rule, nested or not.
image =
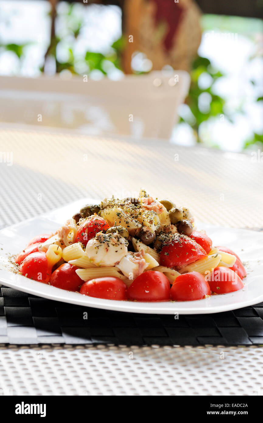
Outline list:
[[[198,272],[184,273],[178,276],[171,288],[171,299],[175,301],[193,301],[211,294],[209,283]]]

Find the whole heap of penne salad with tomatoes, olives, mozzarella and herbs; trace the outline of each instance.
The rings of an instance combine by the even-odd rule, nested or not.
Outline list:
[[[192,301],[244,287],[236,253],[197,231],[186,207],[140,190],[87,204],[16,256],[19,273],[90,297]]]

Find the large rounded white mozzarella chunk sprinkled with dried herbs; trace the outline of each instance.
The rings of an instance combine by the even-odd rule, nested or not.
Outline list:
[[[117,232],[99,232],[88,241],[86,253],[96,266],[115,266],[127,254],[127,245],[126,239]]]

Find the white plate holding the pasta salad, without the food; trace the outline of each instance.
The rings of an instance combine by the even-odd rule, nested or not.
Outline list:
[[[207,299],[188,302],[129,302],[87,297],[76,292],[64,291],[22,275],[12,273],[8,256],[17,254],[38,233],[55,232],[65,220],[83,204],[94,202],[86,198],[40,217],[25,220],[0,231],[0,281],[3,285],[56,301],[107,310],[153,314],[200,314],[234,310],[263,301],[263,233],[245,229],[222,228],[198,224],[205,229],[214,245],[225,245],[233,249],[245,262],[248,276],[245,287],[230,294],[214,295]]]

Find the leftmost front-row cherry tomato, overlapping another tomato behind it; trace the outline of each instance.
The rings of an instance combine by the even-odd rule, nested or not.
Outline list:
[[[19,272],[29,279],[48,283],[50,275],[48,275],[46,253],[44,253],[44,251],[39,251],[27,255],[19,266]]]

